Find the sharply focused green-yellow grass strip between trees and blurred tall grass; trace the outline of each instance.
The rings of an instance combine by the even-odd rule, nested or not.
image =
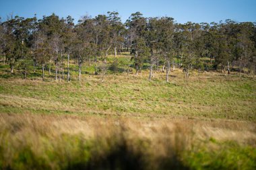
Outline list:
[[[221,77],[209,79],[177,77],[164,81],[158,73],[153,81],[146,74],[101,75],[83,81],[67,83],[24,79],[1,79],[0,107],[2,112],[67,112],[141,116],[186,116],[195,118],[222,118],[256,120],[256,81],[250,78]],[[43,109],[42,109],[43,108]],[[33,110],[34,109],[34,110]]]

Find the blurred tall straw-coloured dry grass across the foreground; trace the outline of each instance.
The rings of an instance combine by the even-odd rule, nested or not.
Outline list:
[[[225,141],[255,148],[255,132],[253,123],[224,120],[1,114],[0,167],[197,169],[200,149],[221,151]]]

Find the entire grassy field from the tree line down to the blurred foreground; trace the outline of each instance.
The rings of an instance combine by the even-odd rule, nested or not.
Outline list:
[[[256,169],[255,78],[175,69],[148,81],[118,60],[104,81],[88,63],[77,81],[72,64],[70,83],[1,63],[0,169]]]

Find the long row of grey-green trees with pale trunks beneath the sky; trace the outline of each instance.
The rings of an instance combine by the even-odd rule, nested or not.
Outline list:
[[[136,75],[145,62],[150,63],[150,76],[154,66],[166,72],[170,66],[183,67],[189,77],[191,69],[205,69],[202,58],[210,58],[214,69],[230,73],[255,74],[256,25],[252,22],[225,22],[210,24],[179,24],[172,17],[143,17],[132,13],[123,24],[119,13],[108,12],[94,18],[86,15],[74,24],[73,18],[59,18],[54,13],[37,19],[9,16],[0,22],[1,60],[8,63],[11,73],[19,61],[26,79],[28,65],[47,68],[49,74],[55,65],[55,79],[70,81],[69,60],[77,60],[79,80],[84,61],[94,65],[94,74],[99,73],[98,62],[106,73],[108,54],[115,57],[123,50],[131,53]],[[128,69],[129,71],[129,69]],[[66,76],[64,78],[64,73]]]

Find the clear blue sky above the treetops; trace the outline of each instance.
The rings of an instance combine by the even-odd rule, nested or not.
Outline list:
[[[256,22],[256,0],[0,0],[0,16],[13,13],[23,17],[38,17],[55,13],[60,17],[71,15],[75,21],[88,13],[94,17],[107,11],[118,11],[123,22],[136,11],[144,17],[174,17],[179,23],[219,22],[233,19],[237,22]]]

